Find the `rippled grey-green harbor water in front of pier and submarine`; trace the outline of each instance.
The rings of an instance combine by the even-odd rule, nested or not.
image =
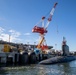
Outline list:
[[[76,75],[76,60],[53,65],[0,67],[0,75]]]

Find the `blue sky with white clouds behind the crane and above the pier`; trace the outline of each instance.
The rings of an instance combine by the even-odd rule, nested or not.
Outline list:
[[[46,43],[61,50],[65,37],[70,51],[76,51],[76,0],[0,0],[0,40],[9,41],[10,35],[14,43],[38,44],[39,34],[32,33],[32,29],[42,16],[50,14],[56,2]]]

